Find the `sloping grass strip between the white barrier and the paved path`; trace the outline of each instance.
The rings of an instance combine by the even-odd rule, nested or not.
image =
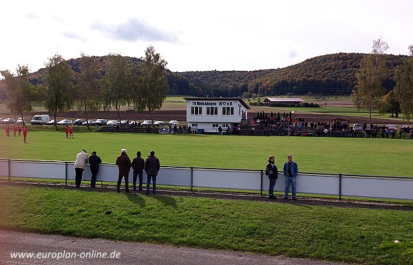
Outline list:
[[[358,264],[407,264],[413,211],[0,186],[2,226]]]

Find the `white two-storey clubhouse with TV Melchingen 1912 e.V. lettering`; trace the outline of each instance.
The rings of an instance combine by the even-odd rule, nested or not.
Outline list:
[[[187,123],[195,132],[222,133],[246,120],[248,105],[241,98],[184,98],[187,100]]]

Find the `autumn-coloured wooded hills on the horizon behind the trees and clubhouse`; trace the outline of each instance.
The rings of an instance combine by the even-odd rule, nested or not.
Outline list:
[[[171,72],[167,70],[169,83],[168,94],[237,97],[277,96],[293,93],[305,95],[348,95],[357,84],[356,73],[365,54],[339,53],[317,56],[302,63],[285,68],[257,71],[203,71],[203,72]],[[388,66],[388,78],[383,83],[386,91],[396,85],[394,70],[407,59],[405,55],[383,54]],[[105,74],[106,56],[94,57],[99,61],[100,73]],[[139,65],[140,59],[128,58]],[[80,72],[81,58],[67,61],[75,74]],[[30,74],[30,82],[34,85],[42,83],[45,69]],[[0,81],[0,90],[3,86]],[[0,98],[5,95],[0,91]]]

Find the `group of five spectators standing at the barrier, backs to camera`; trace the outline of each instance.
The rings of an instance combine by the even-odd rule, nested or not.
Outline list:
[[[126,149],[120,150],[120,156],[116,158],[116,165],[118,166],[118,182],[116,184],[116,191],[120,192],[120,184],[122,180],[125,179],[125,193],[129,193],[129,171],[133,170],[134,178],[134,191],[136,191],[136,181],[138,180],[138,190],[142,191],[143,182],[143,171],[147,173],[147,191],[149,194],[149,189],[152,181],[152,193],[156,194],[156,176],[158,176],[158,171],[160,169],[159,159],[155,156],[155,151],[151,150],[149,156],[146,160],[141,157],[142,153],[140,151],[136,152],[136,158],[132,161],[127,155]],[[96,176],[98,175],[99,165],[102,160],[97,156],[96,151],[92,151],[91,156],[87,155],[87,151],[83,149],[80,153],[76,155],[76,162],[74,163],[75,171],[75,184],[76,187],[81,187],[83,171],[85,170],[86,164],[90,164],[90,171],[92,173],[92,180],[90,182],[90,187],[96,187]]]

